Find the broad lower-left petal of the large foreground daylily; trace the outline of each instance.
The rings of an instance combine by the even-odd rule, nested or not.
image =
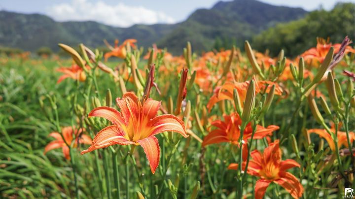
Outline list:
[[[80,154],[82,155],[95,149],[105,148],[114,144],[127,145],[135,144],[135,142],[127,140],[119,126],[112,125],[97,133],[91,146],[87,150],[83,150]]]

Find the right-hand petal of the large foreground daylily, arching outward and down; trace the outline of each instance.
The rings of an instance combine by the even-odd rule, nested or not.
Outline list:
[[[174,115],[159,115],[150,120],[148,125],[152,128],[150,135],[155,135],[163,132],[175,132],[180,133],[184,137],[188,137],[185,131],[184,123]]]

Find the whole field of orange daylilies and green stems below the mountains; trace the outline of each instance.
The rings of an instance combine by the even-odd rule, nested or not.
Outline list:
[[[0,198],[343,198],[355,49],[0,56]]]

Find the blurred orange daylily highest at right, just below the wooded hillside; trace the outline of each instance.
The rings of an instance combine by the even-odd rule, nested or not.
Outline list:
[[[309,63],[309,65],[318,66],[323,62],[326,54],[332,46],[334,47],[334,54],[338,53],[341,49],[340,43],[332,45],[332,43],[329,42],[329,38],[325,40],[323,38],[317,37],[317,46],[305,51],[300,57],[303,57],[303,59]],[[355,49],[351,46],[347,46],[345,48],[345,54],[348,54],[349,52],[355,53]]]

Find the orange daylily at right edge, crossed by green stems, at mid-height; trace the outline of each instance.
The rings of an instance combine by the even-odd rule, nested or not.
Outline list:
[[[330,132],[335,133],[334,124],[332,124]],[[334,144],[333,137],[328,132],[326,132],[324,129],[310,129],[310,130],[307,130],[307,133],[318,134],[320,137],[324,138],[328,142],[329,148],[332,151],[335,151],[335,144]],[[353,143],[353,141],[355,140],[355,133],[349,132],[349,138],[350,138],[350,143]],[[338,148],[340,149],[343,145],[345,147],[349,147],[348,138],[347,138],[346,132],[341,132],[338,130]]]

